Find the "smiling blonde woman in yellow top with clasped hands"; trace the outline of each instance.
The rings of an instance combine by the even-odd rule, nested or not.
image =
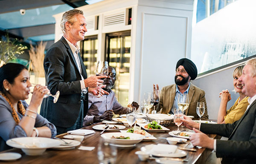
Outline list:
[[[233,85],[236,93],[239,93],[239,98],[229,110],[227,110],[227,102],[231,100],[229,91],[222,90],[220,93],[221,104],[218,111],[218,124],[232,124],[233,122],[236,122],[243,116],[249,105],[247,101],[248,97],[242,93],[243,85],[238,81],[239,77],[242,75],[243,68],[244,65],[241,65],[236,67],[233,71]]]

